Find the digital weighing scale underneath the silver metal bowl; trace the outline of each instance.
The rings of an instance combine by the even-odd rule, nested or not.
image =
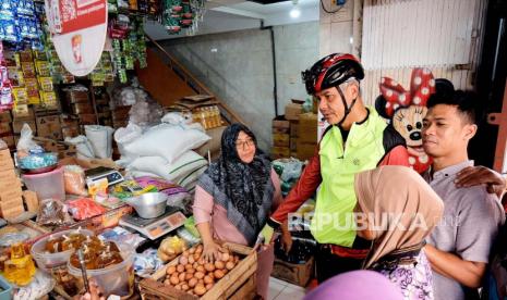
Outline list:
[[[166,207],[166,212],[159,217],[143,218],[134,212],[122,216],[120,225],[154,240],[180,227],[185,221],[186,216],[179,209]]]

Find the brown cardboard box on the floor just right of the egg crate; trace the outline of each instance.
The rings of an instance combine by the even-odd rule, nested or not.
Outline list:
[[[314,274],[314,259],[302,264],[288,263],[275,259],[271,276],[301,287],[305,287]]]

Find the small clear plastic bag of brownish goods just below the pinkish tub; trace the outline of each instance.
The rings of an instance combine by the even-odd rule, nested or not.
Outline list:
[[[37,224],[41,226],[62,226],[73,223],[65,204],[56,199],[44,199],[39,203]]]

